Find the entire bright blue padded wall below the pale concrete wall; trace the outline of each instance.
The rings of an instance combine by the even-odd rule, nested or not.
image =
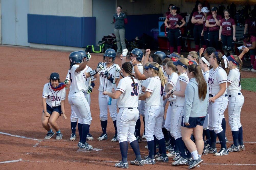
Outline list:
[[[30,43],[86,47],[95,45],[95,34],[96,17],[28,14]]]

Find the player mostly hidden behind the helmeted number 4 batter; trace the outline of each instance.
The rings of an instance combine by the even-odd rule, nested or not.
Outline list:
[[[82,57],[86,57],[86,53],[84,51],[78,51],[78,52],[81,53]],[[92,68],[89,67],[89,66],[86,66],[85,69],[83,70],[83,72],[85,72],[85,73],[86,72],[89,73],[90,71],[92,71]],[[68,70],[66,80],[67,80],[67,82],[70,81],[70,70]],[[87,87],[88,90],[84,92],[84,96],[85,96],[86,99],[88,99],[87,102],[89,103],[89,106],[91,104],[91,95],[90,95],[90,93],[92,92],[92,89],[95,86],[94,80],[96,80],[96,79],[93,76],[90,77],[90,78],[87,78],[87,77],[85,78],[85,84],[86,84],[86,87]],[[91,82],[90,86],[89,86],[89,82]],[[70,124],[71,124],[72,133],[71,133],[71,136],[70,136],[70,140],[72,140],[72,141],[76,140],[77,119],[78,119],[78,116],[76,115],[73,107],[71,106]],[[90,134],[90,129],[88,131],[88,135],[87,135],[86,139],[87,140],[93,140],[93,137]]]

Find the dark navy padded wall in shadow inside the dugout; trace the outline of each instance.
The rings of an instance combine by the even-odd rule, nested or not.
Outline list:
[[[158,29],[158,19],[163,17],[163,14],[149,14],[149,15],[128,15],[128,24],[125,25],[125,38],[130,41],[139,38],[146,33],[153,37],[152,28]]]

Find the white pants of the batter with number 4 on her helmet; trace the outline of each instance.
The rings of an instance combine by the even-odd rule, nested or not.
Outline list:
[[[91,125],[91,110],[87,100],[84,97],[83,91],[68,94],[68,102],[73,107],[78,123]]]

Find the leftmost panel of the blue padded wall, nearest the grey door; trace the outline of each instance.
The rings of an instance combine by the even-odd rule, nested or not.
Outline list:
[[[28,42],[46,44],[46,15],[28,14]]]

